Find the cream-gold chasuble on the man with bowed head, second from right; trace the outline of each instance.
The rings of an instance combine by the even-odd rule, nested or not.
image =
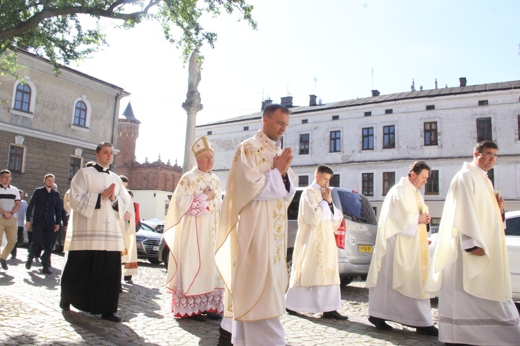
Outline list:
[[[376,246],[367,275],[367,287],[375,287],[381,261],[388,251],[393,251],[392,289],[410,298],[430,297],[424,292],[424,279],[428,268],[428,237],[426,226],[417,224],[419,214],[427,210],[422,194],[402,177],[383,201],[377,226]],[[424,227],[421,227],[424,226]],[[415,230],[415,235],[408,235]],[[388,249],[387,241],[396,237],[395,248]]]

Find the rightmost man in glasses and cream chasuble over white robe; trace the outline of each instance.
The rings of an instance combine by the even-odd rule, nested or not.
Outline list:
[[[453,177],[428,271],[427,291],[439,294],[439,340],[469,345],[520,345],[504,237],[505,201],[487,177],[498,145],[474,147]]]

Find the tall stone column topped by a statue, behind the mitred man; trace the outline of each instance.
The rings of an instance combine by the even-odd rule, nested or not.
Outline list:
[[[197,60],[198,52],[193,51],[189,57],[189,77],[188,77],[188,93],[186,101],[182,103],[182,108],[188,114],[186,124],[186,141],[184,142],[184,163],[182,164],[182,173],[189,172],[195,165],[195,158],[191,153],[191,145],[195,142],[195,124],[199,111],[202,111],[200,103],[200,93],[197,90],[200,82],[200,62]]]

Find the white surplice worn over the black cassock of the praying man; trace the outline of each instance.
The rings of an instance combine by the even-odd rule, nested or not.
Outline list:
[[[110,199],[102,199],[101,208],[96,209],[98,195],[112,183],[115,184],[118,210],[112,208]],[[73,211],[65,251],[123,251],[120,220],[130,203],[130,194],[117,174],[98,172],[94,167],[79,170],[72,178],[69,192]]]

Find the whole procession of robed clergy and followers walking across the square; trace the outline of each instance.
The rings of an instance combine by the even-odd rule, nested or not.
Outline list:
[[[322,313],[347,320],[341,308],[334,231],[343,215],[331,198],[333,171],[318,165],[298,211],[291,276],[286,264],[287,208],[295,194],[293,152],[281,149],[290,111],[270,104],[262,127],[234,154],[224,198],[211,171],[214,146],[202,136],[191,151],[196,167],[182,175],[164,226],[170,249],[166,289],[175,318],[221,320],[218,345],[285,345],[280,316]],[[453,177],[433,255],[428,251],[431,215],[419,192],[430,167],[416,161],[383,201],[376,244],[367,274],[368,321],[391,331],[387,322],[413,327],[447,345],[518,345],[520,317],[512,302],[505,247],[505,201],[494,192],[487,171],[498,146],[477,143],[473,161]],[[128,179],[109,167],[112,144],[96,149],[97,162],[79,170],[60,199],[54,176],[44,176],[31,201],[0,172],[0,237],[7,244],[0,264],[16,256],[20,228],[32,226],[26,268],[43,249],[43,273],[50,274],[53,233],[66,224],[67,258],[60,307],[118,322],[121,263],[125,281],[137,273],[135,230],[139,206],[126,190]],[[19,219],[26,220],[25,224]],[[437,327],[430,298],[438,296]]]

